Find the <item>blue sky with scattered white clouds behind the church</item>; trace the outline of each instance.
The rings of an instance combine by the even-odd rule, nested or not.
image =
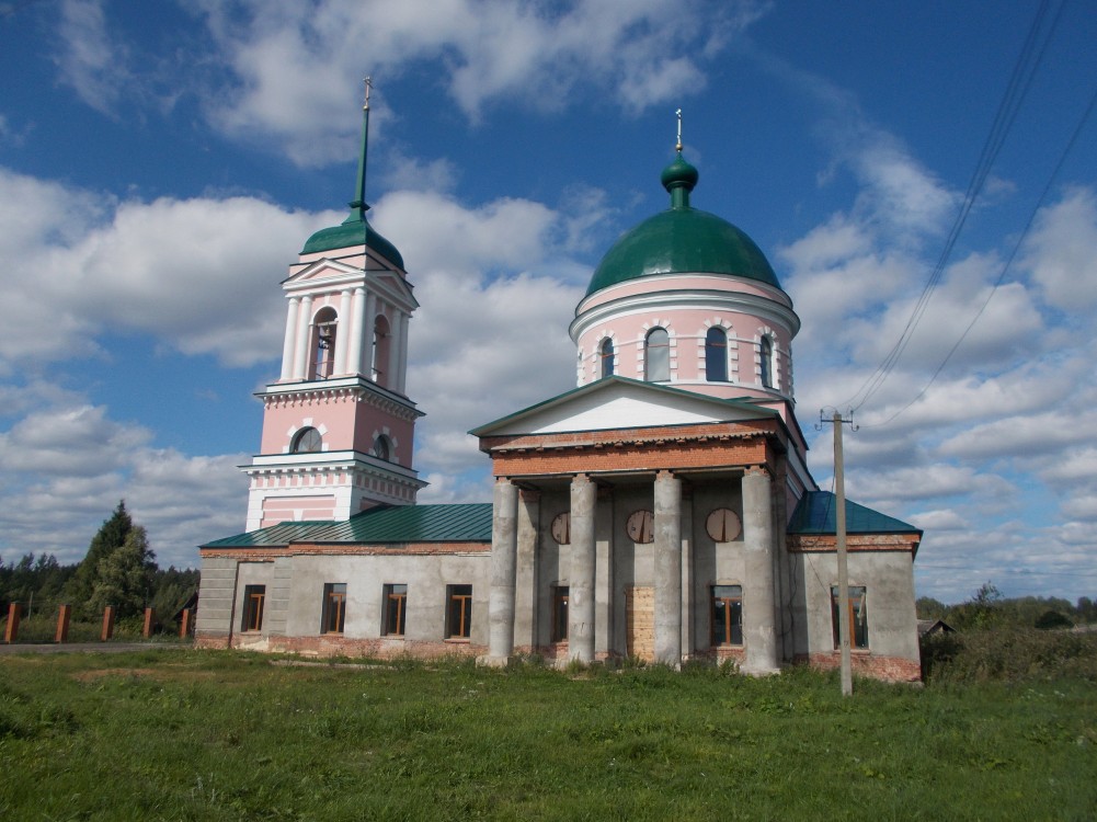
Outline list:
[[[77,561],[122,497],[165,565],[242,529],[279,282],[353,194],[369,74],[371,221],[422,304],[422,502],[488,499],[465,431],[574,384],[575,304],[665,207],[681,108],[693,204],[754,237],[803,322],[819,484],[818,410],[856,405],[847,493],[926,529],[919,595],[1094,596],[1093,119],[1052,177],[1097,89],[1087,3],[1047,4],[940,283],[852,402],[946,246],[1039,8],[0,2],[0,556]]]

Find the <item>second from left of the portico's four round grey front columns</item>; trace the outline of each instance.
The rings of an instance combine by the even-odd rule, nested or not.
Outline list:
[[[568,574],[567,650],[578,662],[595,661],[595,508],[598,486],[586,474],[572,480],[572,568]]]

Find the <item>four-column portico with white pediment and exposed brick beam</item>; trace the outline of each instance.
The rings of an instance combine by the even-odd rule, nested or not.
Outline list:
[[[604,404],[647,395],[671,416],[695,414],[701,403],[711,419],[572,428],[592,393]],[[785,459],[788,437],[777,415],[620,378],[550,406],[474,431],[496,474],[488,662],[535,652],[562,663],[638,656],[677,667],[730,655],[751,672],[777,671],[778,472],[768,466]],[[713,536],[712,516],[736,528]],[[711,592],[721,582],[749,592],[738,646],[712,641]],[[562,588],[564,638],[554,613]]]

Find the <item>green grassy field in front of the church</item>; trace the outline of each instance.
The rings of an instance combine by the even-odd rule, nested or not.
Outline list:
[[[1093,820],[1097,687],[0,657],[4,820]]]

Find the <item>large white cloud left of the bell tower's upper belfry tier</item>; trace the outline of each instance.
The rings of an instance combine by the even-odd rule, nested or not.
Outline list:
[[[117,202],[2,169],[0,219],[0,373],[97,354],[104,330],[230,365],[271,359],[274,285],[302,238],[337,222],[242,196]]]

